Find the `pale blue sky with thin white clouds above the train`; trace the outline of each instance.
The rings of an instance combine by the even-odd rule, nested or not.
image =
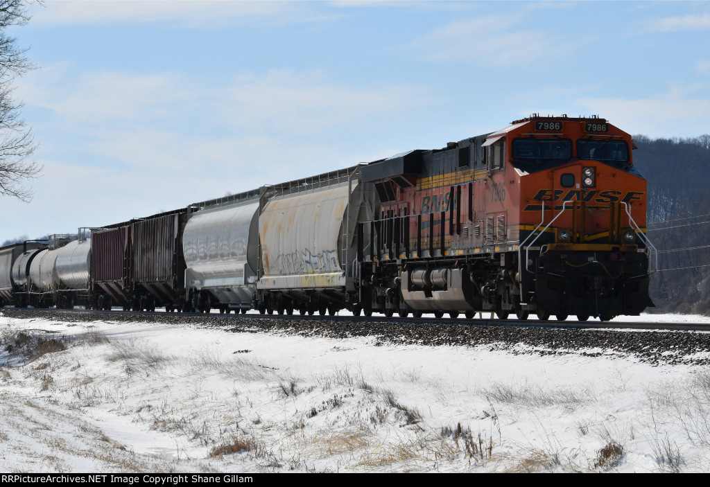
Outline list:
[[[710,132],[710,2],[57,1],[12,29],[44,175],[0,240],[168,211],[530,113]]]

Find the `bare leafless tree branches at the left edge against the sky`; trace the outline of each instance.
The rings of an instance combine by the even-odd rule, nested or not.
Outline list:
[[[23,103],[14,98],[13,83],[35,66],[6,28],[23,26],[29,20],[24,0],[0,0],[0,195],[22,201],[30,201],[33,194],[23,182],[39,177],[43,167],[30,160],[37,144],[20,116]]]

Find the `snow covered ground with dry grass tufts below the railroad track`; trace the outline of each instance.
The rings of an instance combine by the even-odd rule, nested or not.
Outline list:
[[[0,471],[710,471],[708,367],[1,312],[0,340]]]

